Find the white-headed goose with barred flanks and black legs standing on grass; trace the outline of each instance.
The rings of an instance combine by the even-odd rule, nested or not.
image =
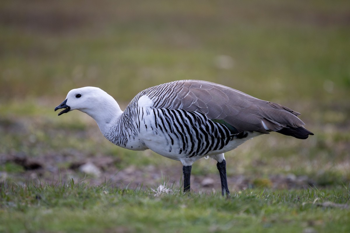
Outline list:
[[[192,164],[203,157],[217,161],[221,194],[230,196],[224,153],[248,139],[278,132],[306,139],[299,112],[257,99],[239,90],[201,80],[180,80],[150,87],[122,111],[97,87],[68,92],[58,116],[80,110],[91,116],[113,144],[130,150],[150,149],[183,165],[183,191],[190,191]]]

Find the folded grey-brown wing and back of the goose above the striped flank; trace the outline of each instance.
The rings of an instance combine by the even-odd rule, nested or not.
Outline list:
[[[299,112],[207,81],[174,81],[148,88],[140,94],[146,94],[155,108],[200,111],[209,119],[222,119],[240,132],[268,133],[262,122],[272,131],[303,128],[304,125],[297,117]]]

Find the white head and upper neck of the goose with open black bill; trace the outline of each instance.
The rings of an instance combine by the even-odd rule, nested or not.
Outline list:
[[[70,90],[66,99],[55,108],[55,111],[62,108],[64,110],[59,112],[58,116],[77,109],[91,116],[100,128],[102,124],[109,123],[122,113],[113,97],[98,87]]]

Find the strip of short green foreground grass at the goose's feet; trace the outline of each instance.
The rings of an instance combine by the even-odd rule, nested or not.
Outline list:
[[[349,187],[324,192],[247,189],[154,197],[151,189],[81,183],[1,187],[4,232],[347,232]],[[333,205],[322,205],[322,203]],[[132,223],[132,224],[130,224]]]

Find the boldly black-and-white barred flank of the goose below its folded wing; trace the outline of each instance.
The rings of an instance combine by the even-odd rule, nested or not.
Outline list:
[[[140,111],[140,128],[152,135],[153,141],[163,141],[166,153],[205,155],[223,149],[235,136],[201,112],[152,107]]]

